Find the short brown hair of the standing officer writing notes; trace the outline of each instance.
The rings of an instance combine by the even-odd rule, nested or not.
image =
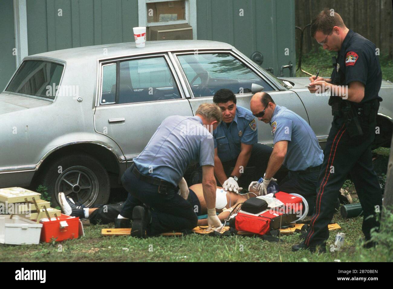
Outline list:
[[[329,8],[323,9],[311,22],[310,35],[314,38],[317,31],[323,34],[331,33],[334,26],[345,27],[345,24],[337,12],[330,11]]]

